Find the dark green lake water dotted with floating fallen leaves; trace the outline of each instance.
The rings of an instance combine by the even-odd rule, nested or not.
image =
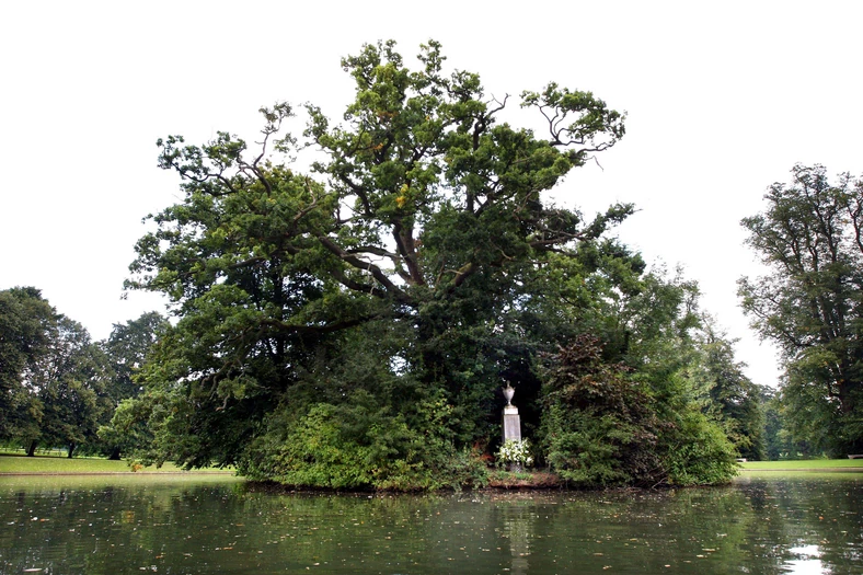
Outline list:
[[[0,478],[0,573],[863,573],[863,474],[660,492],[297,494]]]

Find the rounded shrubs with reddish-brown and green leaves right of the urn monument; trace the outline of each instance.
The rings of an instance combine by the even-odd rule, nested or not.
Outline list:
[[[549,361],[543,437],[548,461],[578,486],[726,483],[734,447],[722,429],[669,388],[651,389],[601,358],[583,335]]]

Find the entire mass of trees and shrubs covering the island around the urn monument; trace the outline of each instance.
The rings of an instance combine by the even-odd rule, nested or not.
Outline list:
[[[418,60],[364,46],[342,62],[341,124],[308,105],[295,137],[289,105],[262,108],[255,152],[227,133],[160,140],[184,195],[150,217],[127,285],[166,294],[177,321],[113,430],[145,461],[291,485],[483,484],[474,449],[496,447],[506,381],[537,458],[574,483],[727,479],[697,402],[697,286],[603,237],[632,206],[586,219],[545,197],[623,115],[552,83],[521,95],[546,124],[534,134],[499,120],[508,97],[479,76],[445,72],[437,43]],[[311,172],[294,171],[310,147]],[[538,369],[557,346],[577,357]],[[705,445],[669,460],[688,440]]]

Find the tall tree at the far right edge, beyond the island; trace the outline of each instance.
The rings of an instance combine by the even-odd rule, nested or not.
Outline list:
[[[771,269],[739,280],[744,310],[785,360],[782,398],[796,437],[841,456],[863,448],[863,182],[796,165],[763,214],[743,220]]]

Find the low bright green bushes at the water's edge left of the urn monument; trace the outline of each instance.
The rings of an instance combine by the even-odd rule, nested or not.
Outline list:
[[[346,403],[315,403],[300,414],[296,406],[277,410],[240,471],[253,480],[354,490],[460,488],[487,481],[475,455],[447,439],[440,401],[393,413],[358,392]]]

